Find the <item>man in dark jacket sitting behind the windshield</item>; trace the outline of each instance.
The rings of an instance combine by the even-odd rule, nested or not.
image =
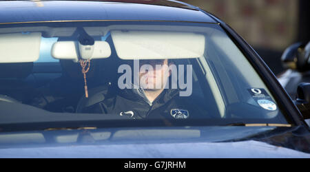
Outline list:
[[[118,82],[116,89],[114,87],[114,89],[110,88],[107,92],[99,93],[100,95],[94,94],[93,97],[103,97],[103,100],[84,107],[82,112],[116,114],[136,119],[206,118],[206,109],[202,109],[201,106],[195,104],[199,100],[194,100],[191,96],[180,96],[179,89],[166,87],[167,83],[169,83],[169,76],[172,75],[169,69],[172,68],[171,65],[174,65],[174,63],[168,61],[168,59],[141,60],[138,62],[139,69],[133,70],[134,75],[136,75],[133,84],[130,82],[123,89],[123,85]],[[92,96],[90,96],[89,100],[92,99]]]

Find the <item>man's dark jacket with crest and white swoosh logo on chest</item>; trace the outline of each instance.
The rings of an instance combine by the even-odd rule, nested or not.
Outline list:
[[[101,99],[97,103],[82,108],[83,113],[115,114],[142,118],[207,118],[207,109],[196,105],[194,98],[180,97],[178,89],[164,89],[163,92],[150,103],[143,89],[108,89],[94,94],[93,97]],[[92,100],[92,96],[90,96]],[[201,103],[201,102],[200,102]],[[90,104],[90,103],[86,103]]]

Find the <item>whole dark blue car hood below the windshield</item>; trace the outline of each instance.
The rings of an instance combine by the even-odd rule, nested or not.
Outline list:
[[[61,129],[0,142],[0,158],[310,158],[304,126]]]

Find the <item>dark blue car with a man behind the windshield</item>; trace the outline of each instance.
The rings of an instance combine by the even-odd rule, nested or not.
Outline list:
[[[0,65],[1,158],[310,158],[309,85],[187,3],[1,1]]]

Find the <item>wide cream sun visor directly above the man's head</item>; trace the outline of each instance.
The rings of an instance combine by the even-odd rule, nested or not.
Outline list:
[[[205,36],[188,32],[111,31],[119,58],[198,58],[205,51]]]

